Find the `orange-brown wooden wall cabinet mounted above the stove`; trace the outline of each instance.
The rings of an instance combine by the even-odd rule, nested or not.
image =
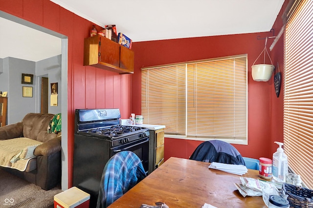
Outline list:
[[[100,35],[84,40],[84,66],[134,73],[134,51]]]

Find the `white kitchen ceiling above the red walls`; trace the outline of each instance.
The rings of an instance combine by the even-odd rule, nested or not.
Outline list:
[[[51,0],[134,42],[268,32],[284,0]]]

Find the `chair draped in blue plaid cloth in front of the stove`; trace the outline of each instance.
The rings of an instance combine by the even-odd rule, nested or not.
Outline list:
[[[97,208],[106,208],[146,177],[139,157],[131,151],[113,155],[103,169]]]

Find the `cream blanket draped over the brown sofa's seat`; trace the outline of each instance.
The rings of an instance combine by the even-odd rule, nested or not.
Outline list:
[[[24,171],[29,160],[36,157],[35,148],[41,144],[25,137],[0,140],[0,166]]]

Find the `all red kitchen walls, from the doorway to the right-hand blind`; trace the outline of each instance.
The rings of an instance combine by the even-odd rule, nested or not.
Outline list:
[[[282,10],[286,4],[285,2]],[[282,141],[283,89],[280,97],[276,98],[273,78],[268,82],[254,82],[251,78],[251,65],[263,50],[265,43],[264,40],[257,40],[257,36],[271,36],[271,33],[134,42],[134,75],[119,75],[103,69],[83,66],[83,40],[89,36],[91,22],[49,0],[0,0],[0,10],[68,37],[69,187],[72,186],[74,110],[113,107],[120,108],[122,118],[128,118],[131,112],[140,114],[140,68],[144,66],[248,54],[248,145],[234,146],[246,157],[271,158],[271,154],[276,149],[273,141]],[[273,26],[275,35],[282,25],[281,13]],[[273,64],[279,62],[281,72],[283,71],[282,39],[270,52]],[[268,47],[271,42],[268,41]],[[165,159],[171,156],[188,158],[200,143],[200,141],[166,138]]]

